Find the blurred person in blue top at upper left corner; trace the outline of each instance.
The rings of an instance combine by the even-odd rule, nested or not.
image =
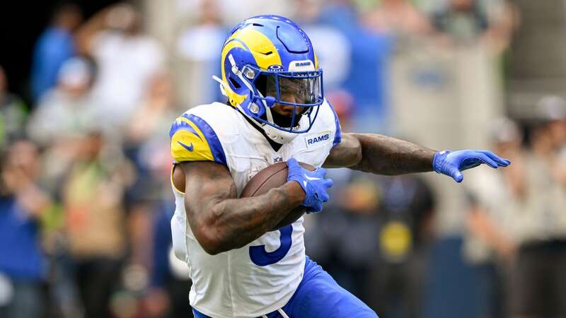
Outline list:
[[[73,33],[82,22],[81,9],[64,4],[54,11],[51,25],[40,35],[33,52],[31,88],[33,100],[57,84],[64,61],[76,54]]]

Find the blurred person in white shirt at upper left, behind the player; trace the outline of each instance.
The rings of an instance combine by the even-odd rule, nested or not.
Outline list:
[[[97,113],[115,137],[134,117],[165,63],[163,48],[142,28],[141,14],[118,4],[96,13],[77,31],[81,52],[98,66],[93,86]]]

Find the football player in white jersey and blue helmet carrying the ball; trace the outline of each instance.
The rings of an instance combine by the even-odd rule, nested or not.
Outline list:
[[[299,205],[322,210],[332,186],[323,166],[436,171],[461,182],[470,167],[509,165],[489,151],[437,152],[342,133],[311,41],[288,18],[256,16],[233,28],[221,76],[228,102],[192,108],[170,131],[173,248],[187,263],[196,317],[377,317],[306,257],[302,217],[271,230]],[[251,177],[280,161],[289,167],[287,183],[239,198]]]

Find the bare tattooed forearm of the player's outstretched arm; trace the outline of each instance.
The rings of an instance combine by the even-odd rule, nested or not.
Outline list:
[[[360,144],[362,158],[351,168],[380,175],[403,175],[432,171],[435,151],[415,143],[379,134],[352,134]]]

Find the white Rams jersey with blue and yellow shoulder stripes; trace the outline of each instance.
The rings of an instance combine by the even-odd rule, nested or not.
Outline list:
[[[296,158],[320,167],[341,138],[336,114],[326,101],[320,105],[310,131],[299,134],[279,151],[243,114],[219,102],[185,112],[173,124],[170,136],[176,162],[211,160],[226,165],[238,195],[251,177],[273,163]],[[260,317],[289,301],[304,272],[302,217],[265,233],[245,247],[210,255],[204,252],[187,223],[185,194],[175,186],[173,192],[173,249],[189,268],[192,307],[214,318]]]

